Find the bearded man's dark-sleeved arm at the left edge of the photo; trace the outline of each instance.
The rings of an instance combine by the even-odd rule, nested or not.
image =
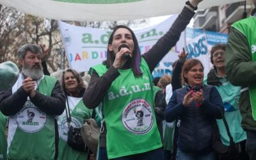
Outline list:
[[[28,93],[20,88],[12,94],[12,89],[0,92],[0,111],[6,116],[15,115],[28,100]]]

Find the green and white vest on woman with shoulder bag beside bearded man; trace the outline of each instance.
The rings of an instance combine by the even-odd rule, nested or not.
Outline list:
[[[81,128],[85,119],[92,117],[92,109],[86,108],[82,98],[69,97],[68,104],[71,114],[71,125]],[[60,160],[86,160],[88,153],[72,149],[67,143],[68,125],[66,111],[58,116],[58,127],[60,134],[59,156]]]

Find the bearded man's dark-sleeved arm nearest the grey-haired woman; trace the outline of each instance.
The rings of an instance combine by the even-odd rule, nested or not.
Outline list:
[[[65,95],[58,81],[56,81],[52,90],[51,97],[36,92],[35,97],[31,97],[30,100],[41,111],[47,113],[47,115],[61,115],[66,106]]]

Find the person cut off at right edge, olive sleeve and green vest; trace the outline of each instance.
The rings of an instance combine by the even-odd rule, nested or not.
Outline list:
[[[256,1],[253,1],[256,6]],[[228,80],[241,86],[239,108],[246,131],[246,152],[256,159],[256,8],[247,19],[232,24],[228,38],[226,72]]]

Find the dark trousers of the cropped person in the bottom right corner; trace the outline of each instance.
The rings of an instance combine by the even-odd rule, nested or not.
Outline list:
[[[256,132],[246,131],[246,152],[249,155],[251,160],[256,159]]]

